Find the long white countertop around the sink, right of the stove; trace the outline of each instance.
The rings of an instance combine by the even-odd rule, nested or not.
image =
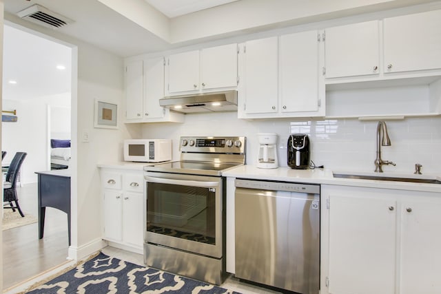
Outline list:
[[[339,171],[340,172],[340,171]],[[375,174],[360,173],[354,174]],[[289,167],[278,167],[277,169],[259,169],[254,165],[243,165],[223,172],[223,176],[232,178],[249,178],[254,180],[279,180],[285,182],[304,182],[311,184],[343,185],[354,187],[371,187],[380,189],[398,189],[410,191],[428,191],[441,193],[441,185],[425,184],[418,182],[396,182],[386,180],[361,180],[350,178],[334,178],[332,171],[328,169],[291,169]],[[418,178],[417,175],[384,173],[382,176],[406,176],[407,178]],[[436,175],[420,175],[421,178],[438,178]]]

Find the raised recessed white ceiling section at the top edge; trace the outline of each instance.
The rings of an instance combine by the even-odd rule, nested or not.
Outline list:
[[[145,0],[170,19],[238,0]]]

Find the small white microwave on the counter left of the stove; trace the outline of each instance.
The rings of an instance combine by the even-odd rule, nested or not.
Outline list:
[[[161,162],[172,160],[170,139],[124,140],[124,160],[138,162]]]

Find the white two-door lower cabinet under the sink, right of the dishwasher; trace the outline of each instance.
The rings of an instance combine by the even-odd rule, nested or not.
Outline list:
[[[322,185],[320,293],[440,293],[441,193]]]

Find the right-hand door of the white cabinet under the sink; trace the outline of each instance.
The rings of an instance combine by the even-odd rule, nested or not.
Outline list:
[[[400,293],[440,293],[441,201],[401,208]]]

